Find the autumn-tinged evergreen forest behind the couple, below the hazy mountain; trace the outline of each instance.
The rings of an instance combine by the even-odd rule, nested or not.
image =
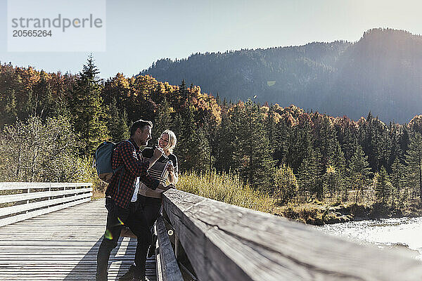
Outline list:
[[[92,56],[78,74],[0,65],[0,181],[96,181],[96,147],[148,119],[150,144],[165,129],[176,133],[182,173],[236,174],[280,204],[422,201],[422,115],[397,124],[367,112],[354,121],[228,101],[184,80],[98,74]]]

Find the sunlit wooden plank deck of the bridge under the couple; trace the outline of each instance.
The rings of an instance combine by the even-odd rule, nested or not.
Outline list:
[[[95,280],[106,216],[104,200],[95,200],[0,227],[0,280]],[[135,249],[135,238],[120,237],[108,280],[127,272]],[[147,278],[156,280],[155,257]]]

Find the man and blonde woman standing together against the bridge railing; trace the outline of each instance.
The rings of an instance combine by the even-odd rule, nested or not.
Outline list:
[[[145,263],[151,244],[151,227],[161,207],[161,194],[177,183],[177,158],[172,155],[176,136],[170,130],[161,134],[158,148],[146,146],[151,140],[151,121],[138,120],[130,128],[130,138],[120,142],[113,151],[113,169],[123,166],[111,178],[106,190],[107,226],[98,249],[96,280],[107,280],[110,252],[117,246],[123,225],[137,237],[133,280],[145,279]],[[146,159],[149,158],[149,159]],[[167,166],[169,185],[153,178],[148,169],[155,162],[170,159]],[[153,246],[152,246],[153,247]]]

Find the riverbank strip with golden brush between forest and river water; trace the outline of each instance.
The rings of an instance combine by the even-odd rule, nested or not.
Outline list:
[[[276,207],[274,214],[293,221],[323,226],[324,224],[363,221],[376,218],[402,218],[422,216],[418,201],[404,207],[392,208],[383,204],[328,204],[313,202],[288,204]]]

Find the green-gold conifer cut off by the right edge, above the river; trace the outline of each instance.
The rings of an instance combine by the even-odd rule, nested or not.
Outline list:
[[[409,182],[414,186],[414,194],[418,194],[422,205],[422,136],[414,133],[407,151],[409,162]]]

